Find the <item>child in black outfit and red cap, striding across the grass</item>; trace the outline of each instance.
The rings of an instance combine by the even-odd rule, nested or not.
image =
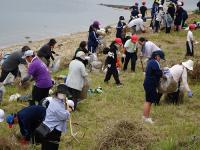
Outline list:
[[[106,64],[107,64],[107,72],[104,79],[105,83],[108,83],[111,76],[113,75],[115,79],[115,83],[117,86],[121,86],[122,83],[119,80],[119,74],[117,70],[117,51],[119,50],[119,47],[122,46],[122,40],[120,38],[115,38],[115,40],[110,45],[110,50],[108,52],[108,56],[106,58]]]

